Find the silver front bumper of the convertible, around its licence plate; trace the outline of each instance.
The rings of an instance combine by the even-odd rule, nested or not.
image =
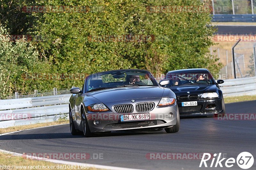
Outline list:
[[[149,120],[143,121],[129,121],[121,122],[121,115],[136,115],[149,113]],[[130,114],[117,114],[112,111],[102,113],[86,113],[88,125],[91,132],[107,132],[107,131],[119,131],[119,130],[132,130],[132,131],[148,131],[159,130],[167,127],[171,127],[177,122],[177,104],[165,107],[156,106],[152,111],[138,113],[133,111]],[[172,113],[172,117],[169,114]],[[95,121],[99,121],[98,125],[95,125]]]

